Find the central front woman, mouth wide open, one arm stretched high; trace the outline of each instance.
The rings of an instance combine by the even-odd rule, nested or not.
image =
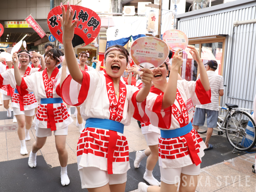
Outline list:
[[[123,84],[120,77],[131,59],[129,52],[119,45],[105,52],[106,74],[80,70],[72,47],[77,19],[72,24],[73,9],[69,4],[67,12],[64,6],[61,7],[63,19],[59,19],[70,72],[61,87],[62,98],[69,105],[81,105],[81,116],[86,120],[86,128],[77,144],[82,188],[87,188],[89,192],[124,192],[130,164],[123,129],[130,124],[136,102],[142,102],[147,97],[152,72],[141,69],[144,71],[141,79],[145,86],[140,91],[137,87]]]

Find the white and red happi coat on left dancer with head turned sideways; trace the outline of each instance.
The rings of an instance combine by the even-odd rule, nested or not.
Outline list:
[[[33,91],[38,99],[61,98],[59,86],[61,71],[56,67],[48,79],[46,70],[47,68],[44,71],[23,77],[20,86],[17,86],[19,93],[25,95]],[[65,128],[72,122],[73,119],[69,116],[63,103],[40,104],[34,118],[37,127],[51,128],[52,131]]]

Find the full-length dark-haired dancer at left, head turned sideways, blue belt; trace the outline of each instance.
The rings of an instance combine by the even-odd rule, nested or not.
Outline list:
[[[58,49],[50,49],[45,54],[46,69],[40,73],[34,73],[31,76],[21,77],[17,70],[17,63],[14,63],[15,80],[17,89],[21,95],[26,95],[33,91],[36,98],[41,99],[37,110],[34,123],[36,124],[36,141],[32,146],[29,155],[28,165],[36,167],[37,151],[41,149],[48,136],[55,135],[56,149],[59,154],[61,166],[61,184],[69,184],[67,175],[68,153],[66,149],[66,136],[68,134],[68,125],[73,122],[67,112],[66,106],[60,97],[60,85],[66,78],[66,73],[61,73],[58,67],[63,62],[63,53]],[[13,55],[15,59],[17,55]],[[65,70],[66,68],[62,69]]]

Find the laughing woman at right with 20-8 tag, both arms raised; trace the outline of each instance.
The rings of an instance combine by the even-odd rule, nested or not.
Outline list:
[[[180,191],[196,190],[201,158],[206,146],[193,129],[191,119],[194,105],[211,102],[211,92],[207,73],[196,48],[188,48],[198,63],[200,80],[177,80],[178,70],[183,63],[178,50],[172,59],[168,83],[168,59],[161,66],[151,69],[154,86],[151,87],[146,102],[138,103],[141,110],[135,111],[134,115],[139,117],[138,120],[150,121],[161,131],[158,145],[161,188],[141,182],[139,192],[177,191],[180,178]],[[191,180],[194,182],[192,186],[188,184]]]

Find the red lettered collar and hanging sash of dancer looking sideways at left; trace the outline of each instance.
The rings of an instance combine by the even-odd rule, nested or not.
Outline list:
[[[56,81],[56,76],[59,73],[58,67],[56,67],[52,74],[50,79],[48,79],[48,74],[47,74],[47,68],[44,69],[43,71],[43,81],[44,81],[44,89],[45,89],[45,94],[47,98],[53,98],[53,87],[54,87],[54,82]],[[55,124],[55,116],[53,112],[53,103],[49,103],[46,105],[47,108],[47,115],[49,121],[47,121],[47,127],[50,127],[52,131],[56,130],[56,124]]]

